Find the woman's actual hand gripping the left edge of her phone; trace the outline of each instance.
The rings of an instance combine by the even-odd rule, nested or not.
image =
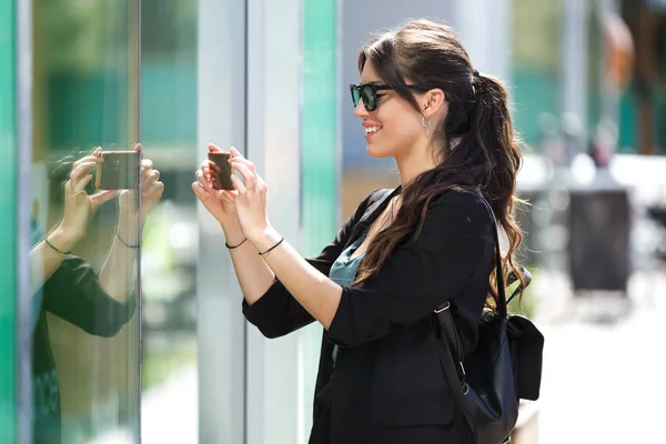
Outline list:
[[[209,151],[222,151],[214,144],[209,144]],[[201,168],[196,170],[196,182],[192,183],[192,190],[196,198],[203,203],[203,206],[220,222],[222,228],[226,230],[240,230],[239,216],[235,209],[235,198],[238,192],[229,190],[213,189],[211,178],[210,161],[204,160]]]

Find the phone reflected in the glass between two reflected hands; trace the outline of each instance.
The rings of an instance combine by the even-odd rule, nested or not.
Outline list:
[[[141,152],[103,151],[98,164],[94,184],[98,190],[137,190]]]

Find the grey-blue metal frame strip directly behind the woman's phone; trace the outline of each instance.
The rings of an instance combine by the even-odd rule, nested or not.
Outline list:
[[[209,143],[246,140],[245,0],[200,0],[198,26],[198,158]],[[193,170],[199,168],[192,165]],[[198,205],[199,442],[245,442],[245,321],[220,225]]]

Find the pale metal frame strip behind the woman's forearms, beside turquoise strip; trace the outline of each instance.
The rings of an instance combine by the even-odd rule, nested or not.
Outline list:
[[[271,223],[300,250],[302,0],[248,0],[246,23],[248,158],[269,184]],[[248,325],[245,337],[245,443],[299,443],[300,334],[269,342]]]

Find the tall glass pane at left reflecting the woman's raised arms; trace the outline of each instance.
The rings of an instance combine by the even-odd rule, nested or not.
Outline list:
[[[137,145],[138,2],[33,1],[37,443],[139,441],[139,243],[162,189]]]

